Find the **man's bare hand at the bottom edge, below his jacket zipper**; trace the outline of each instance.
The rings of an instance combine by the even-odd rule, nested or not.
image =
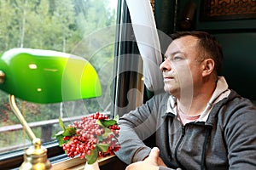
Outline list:
[[[166,167],[165,163],[159,156],[160,150],[154,147],[149,156],[144,161],[132,163],[125,170],[159,170],[159,166]]]

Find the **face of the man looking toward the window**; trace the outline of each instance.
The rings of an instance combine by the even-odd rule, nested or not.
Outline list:
[[[198,39],[192,36],[172,41],[166,50],[165,61],[160,65],[165,90],[177,98],[193,96],[201,80]]]

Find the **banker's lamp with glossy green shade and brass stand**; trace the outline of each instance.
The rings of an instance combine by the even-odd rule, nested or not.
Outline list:
[[[50,169],[47,150],[20,113],[15,97],[49,104],[102,95],[95,69],[84,58],[49,50],[13,48],[0,55],[0,89],[32,140],[20,169]]]

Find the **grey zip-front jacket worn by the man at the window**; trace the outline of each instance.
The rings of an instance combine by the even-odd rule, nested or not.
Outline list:
[[[182,125],[175,113],[166,112],[170,94],[158,94],[119,120],[116,153],[130,164],[142,161],[151,148],[143,143],[152,134],[164,169],[256,169],[256,108],[235,91],[212,106],[206,122]]]

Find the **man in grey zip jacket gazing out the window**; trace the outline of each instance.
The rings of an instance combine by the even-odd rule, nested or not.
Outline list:
[[[222,48],[202,31],[172,39],[160,65],[167,93],[120,118],[116,155],[127,170],[256,169],[256,109],[218,77]]]

